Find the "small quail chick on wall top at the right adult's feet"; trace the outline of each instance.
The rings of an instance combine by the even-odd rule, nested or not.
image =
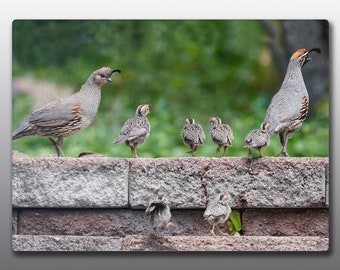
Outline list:
[[[248,148],[248,157],[251,158],[251,149],[259,152],[262,157],[261,150],[270,144],[270,136],[268,134],[270,128],[269,122],[263,122],[260,129],[253,129],[249,131],[244,139],[244,147]]]

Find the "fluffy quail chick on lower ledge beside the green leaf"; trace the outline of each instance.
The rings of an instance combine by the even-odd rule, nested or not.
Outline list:
[[[230,195],[219,194],[215,200],[208,201],[208,205],[204,211],[203,217],[212,225],[210,233],[215,235],[216,225],[225,223],[231,213]]]

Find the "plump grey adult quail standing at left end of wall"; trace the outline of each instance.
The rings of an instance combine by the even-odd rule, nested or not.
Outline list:
[[[12,140],[32,135],[46,137],[53,143],[58,157],[64,156],[64,138],[74,135],[93,122],[101,100],[101,88],[111,82],[114,72],[120,73],[120,70],[102,67],[94,71],[77,93],[49,102],[28,116],[13,131]]]

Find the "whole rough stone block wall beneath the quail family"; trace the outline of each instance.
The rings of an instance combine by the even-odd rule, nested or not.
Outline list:
[[[328,249],[328,158],[29,158],[14,152],[12,166],[16,251],[273,250],[271,241],[291,245],[277,250]],[[245,245],[209,236],[203,220],[206,200],[226,191],[240,213]],[[167,194],[172,209],[173,226],[162,243],[150,242],[144,215],[157,192]]]

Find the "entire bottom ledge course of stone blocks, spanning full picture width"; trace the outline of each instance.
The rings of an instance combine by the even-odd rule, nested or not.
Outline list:
[[[318,251],[329,249],[322,237],[264,236],[104,236],[14,235],[14,251]]]

